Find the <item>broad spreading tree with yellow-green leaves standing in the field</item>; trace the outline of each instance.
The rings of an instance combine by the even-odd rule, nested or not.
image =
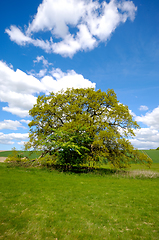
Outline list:
[[[113,90],[52,92],[39,96],[29,114],[26,148],[42,150],[42,156],[50,154],[56,162],[73,165],[107,159],[119,168],[137,161],[151,163],[129,142],[139,126]]]

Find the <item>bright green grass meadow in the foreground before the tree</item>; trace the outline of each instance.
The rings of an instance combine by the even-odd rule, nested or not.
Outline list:
[[[158,239],[159,178],[0,164],[0,239]]]

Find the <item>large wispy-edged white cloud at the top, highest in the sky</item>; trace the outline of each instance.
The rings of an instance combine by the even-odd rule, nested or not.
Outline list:
[[[63,56],[95,48],[106,42],[120,23],[133,21],[137,7],[132,1],[43,0],[23,32],[11,25],[10,39],[19,45],[33,44]],[[72,31],[73,29],[73,31]],[[34,39],[34,33],[50,32],[50,39]]]

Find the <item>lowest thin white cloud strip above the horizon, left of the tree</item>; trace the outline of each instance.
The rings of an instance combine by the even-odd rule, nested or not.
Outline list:
[[[14,141],[23,141],[28,140],[28,133],[9,133],[4,134],[0,132],[0,144],[11,145],[14,144]]]

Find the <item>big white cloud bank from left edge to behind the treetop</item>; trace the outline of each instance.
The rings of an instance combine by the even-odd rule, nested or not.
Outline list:
[[[59,68],[52,69],[50,73],[46,74],[45,71],[39,77],[41,80],[19,69],[14,71],[0,61],[0,101],[8,103],[8,106],[2,108],[3,111],[24,118],[28,116],[29,109],[36,103],[36,95],[40,92],[48,94],[72,87],[95,88],[95,83],[73,70],[64,73]]]

